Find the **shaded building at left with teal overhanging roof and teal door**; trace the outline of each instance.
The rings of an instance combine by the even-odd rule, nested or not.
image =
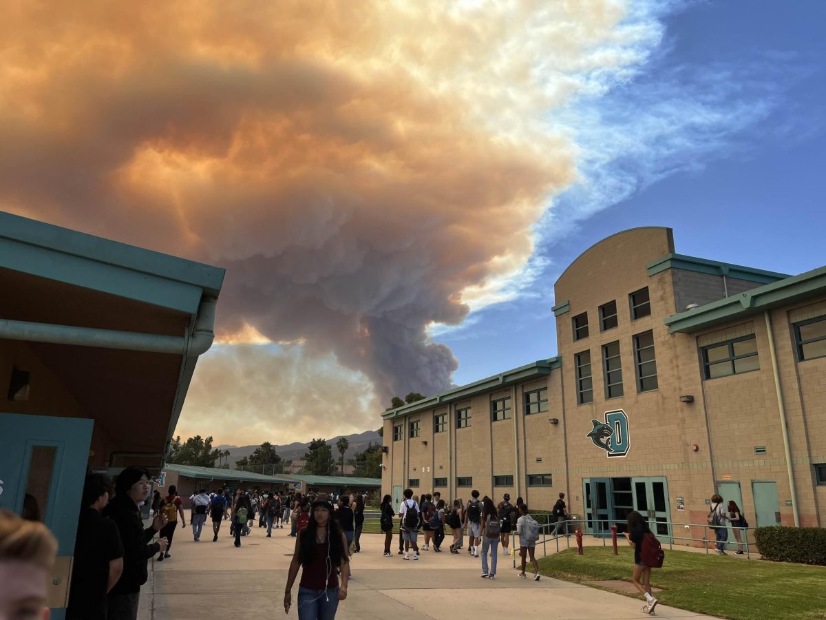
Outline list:
[[[58,539],[64,618],[83,479],[158,475],[224,269],[0,212],[0,508]]]

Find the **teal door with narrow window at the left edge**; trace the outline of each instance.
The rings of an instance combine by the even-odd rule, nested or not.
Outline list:
[[[58,541],[52,618],[63,620],[93,420],[0,413],[0,508],[45,523]]]

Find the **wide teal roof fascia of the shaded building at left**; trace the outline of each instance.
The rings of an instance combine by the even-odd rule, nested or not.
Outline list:
[[[180,312],[217,297],[225,270],[0,212],[0,267]]]

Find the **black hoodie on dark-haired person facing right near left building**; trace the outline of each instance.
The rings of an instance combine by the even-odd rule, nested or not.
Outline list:
[[[157,530],[154,527],[144,529],[137,505],[126,494],[116,495],[103,509],[103,516],[116,523],[123,542],[123,575],[109,594],[140,592],[140,586],[146,583],[148,576],[146,562],[160,551],[157,542],[150,543]]]

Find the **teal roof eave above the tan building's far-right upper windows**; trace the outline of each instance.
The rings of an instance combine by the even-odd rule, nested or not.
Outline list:
[[[674,314],[666,318],[665,324],[669,333],[692,333],[824,294],[826,266]]]

